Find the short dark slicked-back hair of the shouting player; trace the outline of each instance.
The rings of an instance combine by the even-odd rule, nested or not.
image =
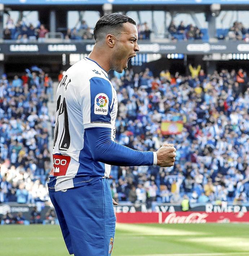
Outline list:
[[[93,30],[93,36],[99,39],[101,33],[109,33],[110,30],[121,30],[123,28],[123,23],[129,22],[136,25],[136,22],[132,18],[119,13],[105,14],[96,23]]]

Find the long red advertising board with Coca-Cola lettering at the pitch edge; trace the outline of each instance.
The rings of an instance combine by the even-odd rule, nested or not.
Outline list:
[[[207,213],[205,211],[176,211],[173,213],[116,213],[119,223],[229,223],[249,222],[248,212]]]

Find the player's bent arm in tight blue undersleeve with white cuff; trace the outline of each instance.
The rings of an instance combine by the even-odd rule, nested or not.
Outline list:
[[[111,129],[91,128],[85,130],[93,159],[119,166],[141,166],[156,164],[156,153],[137,151],[112,141]]]

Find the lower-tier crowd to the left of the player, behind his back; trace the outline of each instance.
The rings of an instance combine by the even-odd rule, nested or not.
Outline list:
[[[50,95],[50,96],[49,96]],[[47,201],[52,79],[32,67],[21,78],[0,80],[0,202]]]

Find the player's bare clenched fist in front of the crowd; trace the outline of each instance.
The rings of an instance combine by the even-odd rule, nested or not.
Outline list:
[[[161,167],[170,167],[174,165],[176,156],[176,148],[174,148],[174,144],[163,144],[156,153],[157,165]]]

